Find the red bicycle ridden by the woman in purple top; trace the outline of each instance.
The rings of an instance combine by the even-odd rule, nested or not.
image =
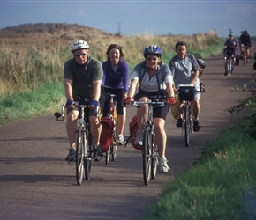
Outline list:
[[[111,155],[112,161],[114,161],[117,158],[117,138],[118,138],[118,132],[117,132],[117,102],[114,100],[114,97],[116,97],[116,94],[107,94],[107,97],[109,97],[109,114],[108,117],[114,122],[114,128],[113,128],[113,140],[109,147],[109,150],[106,152],[106,165],[109,163],[109,158]]]

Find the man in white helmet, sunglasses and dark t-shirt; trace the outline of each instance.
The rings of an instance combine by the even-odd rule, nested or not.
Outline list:
[[[84,40],[76,40],[71,46],[72,59],[64,63],[64,90],[67,99],[66,131],[69,138],[70,150],[67,161],[75,161],[76,130],[79,109],[74,106],[75,101],[89,99],[90,132],[94,138],[94,160],[102,158],[100,136],[102,126],[98,120],[99,99],[102,85],[102,63],[89,56],[89,45]]]

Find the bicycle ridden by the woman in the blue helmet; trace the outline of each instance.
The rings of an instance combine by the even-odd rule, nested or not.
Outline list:
[[[164,102],[158,100],[148,100],[146,102],[134,101],[132,106],[139,107],[147,104],[148,118],[144,125],[143,142],[142,142],[142,164],[143,164],[143,180],[147,186],[149,180],[154,179],[158,165],[158,149],[154,137],[153,124],[153,108],[157,106],[164,106]]]

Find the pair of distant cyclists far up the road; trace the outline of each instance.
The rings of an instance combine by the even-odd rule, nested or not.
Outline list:
[[[236,62],[237,50],[240,48],[240,56],[238,55],[238,59],[245,59],[246,62],[249,62],[249,48],[251,48],[251,37],[250,34],[245,30],[241,33],[239,37],[239,41],[234,38],[234,34],[232,32],[229,33],[229,39],[224,43],[223,55],[224,55],[224,75],[228,75],[228,57],[233,58],[233,65]],[[233,69],[233,67],[232,67]]]

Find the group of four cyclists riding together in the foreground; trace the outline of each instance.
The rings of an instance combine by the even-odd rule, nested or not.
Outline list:
[[[145,60],[137,64],[132,71],[131,84],[129,85],[129,67],[124,62],[123,50],[118,44],[111,44],[107,49],[107,60],[100,62],[90,56],[89,45],[85,40],[76,40],[72,43],[73,57],[64,63],[64,89],[67,122],[66,131],[69,138],[70,150],[67,161],[75,158],[75,137],[79,111],[74,105],[80,99],[89,100],[90,108],[87,110],[90,122],[90,131],[94,138],[94,160],[102,158],[100,136],[102,132],[99,114],[103,116],[109,112],[109,101],[104,99],[105,93],[116,94],[117,101],[117,128],[118,142],[124,143],[125,104],[136,101],[154,100],[155,95],[160,95],[160,101],[166,105],[155,107],[153,112],[153,124],[155,131],[155,143],[159,150],[159,172],[168,172],[169,166],[165,157],[167,136],[164,129],[165,120],[170,105],[176,104],[175,93],[180,84],[193,84],[197,91],[200,90],[200,77],[206,63],[196,59],[194,55],[186,53],[186,44],[177,42],[176,53],[169,64],[162,62],[162,49],[157,45],[149,45],[143,50]],[[137,91],[137,84],[139,90]],[[179,119],[177,127],[181,127],[183,103],[177,100]],[[200,130],[200,92],[196,92],[193,100],[194,121],[193,130]],[[101,113],[102,109],[102,113]],[[138,131],[135,143],[142,145],[143,125],[147,121],[147,106],[137,109]]]

